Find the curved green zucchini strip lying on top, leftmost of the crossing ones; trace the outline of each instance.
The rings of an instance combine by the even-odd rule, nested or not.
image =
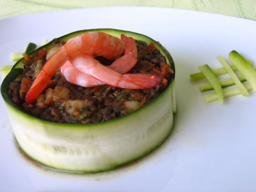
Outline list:
[[[219,98],[220,104],[223,104],[223,91],[220,85],[220,82],[217,80],[213,71],[210,69],[208,65],[200,65],[198,66],[199,70],[204,74],[205,78],[209,81],[209,83],[213,86],[216,91],[217,97]]]

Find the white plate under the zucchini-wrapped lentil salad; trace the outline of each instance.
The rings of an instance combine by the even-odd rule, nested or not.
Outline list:
[[[148,156],[114,171],[67,174],[25,157],[1,99],[0,191],[256,191],[256,95],[204,103],[189,75],[197,65],[219,68],[231,50],[256,63],[256,22],[157,7],[97,7],[0,20],[0,64],[28,42],[92,28],[117,28],[160,41],[176,65],[177,114],[168,140]],[[255,65],[254,65],[255,66]],[[212,93],[212,91],[209,91]]]

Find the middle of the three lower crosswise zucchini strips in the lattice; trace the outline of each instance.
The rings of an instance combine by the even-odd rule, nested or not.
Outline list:
[[[254,67],[254,70],[256,71],[256,67]],[[244,82],[246,81],[244,75],[242,74],[238,74],[237,78],[239,79],[240,82]],[[232,80],[232,78],[228,78],[228,79],[221,79],[219,80],[221,87],[229,87],[229,86],[234,86],[235,82]],[[200,91],[208,91],[208,90],[212,90],[213,86],[210,85],[210,83],[201,83],[200,84]]]

